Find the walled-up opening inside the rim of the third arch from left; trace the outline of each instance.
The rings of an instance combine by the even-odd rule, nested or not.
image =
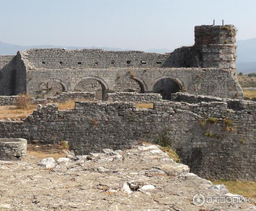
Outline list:
[[[144,87],[140,81],[134,78],[123,78],[116,83],[115,92],[144,93]]]

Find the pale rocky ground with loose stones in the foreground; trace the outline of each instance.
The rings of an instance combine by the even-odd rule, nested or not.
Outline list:
[[[197,207],[194,194],[232,196],[186,165],[175,163],[156,145],[86,156],[0,161],[0,211],[236,211],[249,204]]]

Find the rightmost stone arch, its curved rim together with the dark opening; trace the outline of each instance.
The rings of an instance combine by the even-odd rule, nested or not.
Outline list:
[[[184,83],[177,77],[162,76],[151,85],[155,93],[160,93],[163,100],[171,100],[171,94],[185,89]]]

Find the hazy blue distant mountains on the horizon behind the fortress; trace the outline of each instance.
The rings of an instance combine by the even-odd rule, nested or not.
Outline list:
[[[237,72],[242,72],[243,74],[248,74],[256,72],[256,38],[249,40],[238,40],[236,42],[236,67]],[[16,54],[19,50],[27,50],[29,48],[66,48],[70,49],[82,49],[82,48],[102,48],[109,51],[128,51],[132,49],[122,49],[122,48],[110,48],[110,47],[78,47],[78,46],[52,46],[52,45],[42,45],[42,46],[19,46],[9,43],[3,43],[0,41],[0,55],[12,55]],[[166,52],[172,52],[171,49],[167,48],[150,48],[144,50],[145,52],[153,52],[164,54]]]

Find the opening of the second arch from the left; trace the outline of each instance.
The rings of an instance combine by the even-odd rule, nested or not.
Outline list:
[[[75,90],[77,91],[87,91],[87,92],[95,92],[95,99],[102,100],[102,90],[105,90],[104,85],[93,78],[86,78],[79,81],[76,84]]]

